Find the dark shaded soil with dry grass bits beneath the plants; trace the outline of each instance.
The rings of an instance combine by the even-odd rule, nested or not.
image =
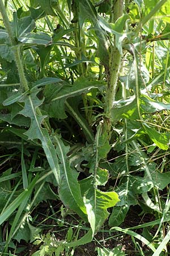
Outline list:
[[[43,208],[45,209],[45,207]],[[139,217],[138,215],[139,212],[137,212],[137,210],[138,208],[136,206],[130,208],[128,217],[125,219],[124,224],[121,225],[121,228],[130,228],[130,226],[137,226],[139,224],[154,220],[153,219],[154,216],[151,216],[151,214],[146,214],[145,216]],[[39,220],[37,220],[38,222],[42,222],[45,220],[45,216],[41,215],[40,212],[39,212]],[[44,210],[42,212],[44,212]],[[61,219],[61,216],[55,216],[55,218]],[[75,228],[73,228],[73,233],[74,233],[77,230],[77,226],[80,224],[80,220],[77,221],[78,219],[79,219],[78,216],[75,216],[75,215],[71,216],[70,214],[68,214],[64,218],[64,225],[61,226],[58,224],[56,225],[56,220],[54,220],[54,218],[49,218],[48,220],[45,220],[43,222],[43,229],[45,228],[45,226],[48,227],[48,229],[46,229],[44,233],[55,234],[56,240],[58,241],[65,240],[67,231],[68,231],[67,224],[70,224],[71,226],[73,225],[76,226]],[[82,224],[82,226],[84,228],[85,224]],[[79,230],[78,238],[83,237],[84,234],[86,233],[86,230],[83,230],[83,228]],[[85,228],[88,229],[88,226],[86,226]],[[96,234],[92,242],[87,243],[86,245],[76,247],[74,250],[74,254],[67,254],[67,256],[70,256],[70,255],[97,256],[96,247],[103,247],[103,246],[107,249],[113,249],[114,247],[120,246],[121,251],[124,251],[125,255],[129,255],[129,256],[141,255],[139,254],[138,249],[135,247],[135,244],[131,239],[131,236],[127,234],[122,234],[120,232],[111,233],[111,232],[108,232],[107,230],[109,230],[109,226],[106,221],[103,229]],[[138,234],[142,234],[142,229],[133,230],[133,231],[137,232]],[[154,233],[154,230],[152,230],[152,232]],[[136,241],[136,242],[139,243],[139,245],[141,246],[144,255],[149,256],[150,250],[148,249],[148,247],[145,244],[143,244],[141,241]],[[18,256],[31,256],[35,251],[39,250],[39,246],[34,246],[32,245],[32,243],[31,244],[25,243],[24,241],[22,243],[22,246],[25,246],[27,249],[22,251],[22,253],[20,253]],[[63,253],[62,255],[66,255],[66,254]]]

